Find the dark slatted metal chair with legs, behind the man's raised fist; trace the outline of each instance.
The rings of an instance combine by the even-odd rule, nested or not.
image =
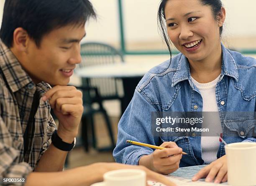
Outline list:
[[[110,45],[99,42],[87,42],[82,44],[81,56],[82,62],[77,68],[123,62],[123,55],[118,50]],[[82,78],[82,86],[77,88],[81,89],[83,92],[84,113],[82,116],[82,139],[85,149],[88,151],[88,124],[90,124],[89,126],[91,126],[92,131],[92,146],[97,148],[93,119],[93,115],[97,112],[102,113],[104,116],[111,140],[110,149],[113,149],[115,147],[113,131],[108,114],[102,106],[102,101],[119,99],[122,102],[122,81],[114,78]],[[98,104],[97,109],[92,107],[93,103]]]

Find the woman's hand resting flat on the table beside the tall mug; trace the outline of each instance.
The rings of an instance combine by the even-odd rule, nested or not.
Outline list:
[[[213,161],[210,165],[202,168],[198,173],[192,178],[192,181],[197,181],[200,178],[205,178],[205,181],[214,183],[220,183],[228,181],[228,169],[227,169],[227,159],[226,155],[220,157],[219,159]]]

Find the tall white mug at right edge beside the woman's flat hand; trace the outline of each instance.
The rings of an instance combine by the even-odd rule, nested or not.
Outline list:
[[[225,145],[228,163],[228,184],[256,185],[256,143],[241,142]]]

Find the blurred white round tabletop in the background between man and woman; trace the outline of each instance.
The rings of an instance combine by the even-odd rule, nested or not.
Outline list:
[[[75,74],[80,77],[142,77],[159,62],[121,62],[117,64],[95,65],[78,68]]]

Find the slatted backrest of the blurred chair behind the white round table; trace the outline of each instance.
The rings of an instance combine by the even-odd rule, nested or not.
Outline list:
[[[114,47],[100,42],[86,42],[81,45],[82,62],[79,67],[116,64],[123,62],[123,55]],[[123,84],[114,78],[82,78],[82,85],[97,87],[102,99],[119,99],[123,96]]]

